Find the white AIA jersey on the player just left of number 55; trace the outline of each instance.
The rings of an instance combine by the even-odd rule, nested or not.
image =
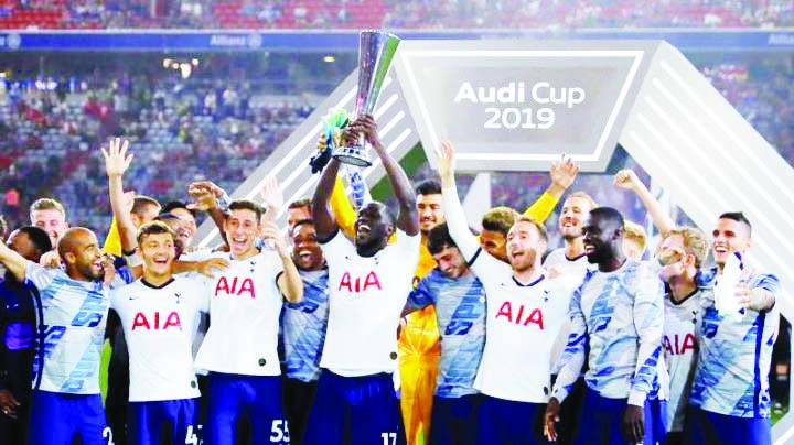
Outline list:
[[[143,280],[114,290],[130,357],[130,402],[200,395],[193,368],[194,325],[210,310],[206,279],[174,276],[161,286]]]

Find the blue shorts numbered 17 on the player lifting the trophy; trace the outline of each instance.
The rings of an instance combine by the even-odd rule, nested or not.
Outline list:
[[[323,369],[303,444],[394,445],[398,405],[389,373],[342,377]]]

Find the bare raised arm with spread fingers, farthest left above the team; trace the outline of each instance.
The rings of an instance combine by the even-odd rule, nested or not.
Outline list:
[[[124,174],[132,162],[132,154],[127,154],[129,141],[121,138],[110,140],[108,150],[101,149],[105,156],[105,173],[108,176],[108,193],[110,207],[118,224],[121,238],[121,251],[129,253],[138,247],[136,241],[136,227],[130,216],[131,206],[124,193]],[[132,196],[135,199],[135,195]]]

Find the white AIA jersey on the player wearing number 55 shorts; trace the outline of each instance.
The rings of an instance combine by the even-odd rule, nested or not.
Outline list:
[[[243,376],[279,376],[277,352],[283,296],[276,283],[283,268],[277,252],[262,250],[230,261],[211,281],[210,330],[198,349],[196,368]]]

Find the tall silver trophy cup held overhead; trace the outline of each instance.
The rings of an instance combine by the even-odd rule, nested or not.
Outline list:
[[[380,87],[386,80],[397,45],[399,39],[393,34],[379,31],[362,31],[358,34],[358,93],[354,119],[375,111]],[[369,146],[363,134],[350,145],[335,148],[333,156],[351,165],[372,165]]]

